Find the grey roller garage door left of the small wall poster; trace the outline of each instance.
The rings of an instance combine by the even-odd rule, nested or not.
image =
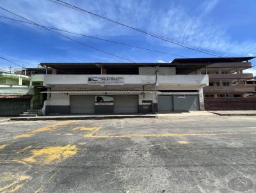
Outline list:
[[[75,95],[70,96],[70,112],[88,114],[94,113],[93,95]]]

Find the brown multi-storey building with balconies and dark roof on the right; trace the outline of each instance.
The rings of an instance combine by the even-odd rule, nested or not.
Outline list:
[[[249,110],[256,109],[256,84],[252,81],[253,74],[244,73],[243,70],[252,68],[250,59],[253,58],[255,57],[177,60],[187,65],[209,64],[193,72],[209,75],[209,86],[204,88],[206,110]]]

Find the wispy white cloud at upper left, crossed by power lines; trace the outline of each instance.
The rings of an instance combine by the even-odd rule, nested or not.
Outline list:
[[[122,20],[128,24],[139,24],[144,15],[148,12],[148,5],[146,1],[77,1],[77,6],[86,8],[100,15],[110,17],[114,20]],[[74,1],[70,1],[74,4]],[[2,6],[7,10],[18,13],[26,17],[27,19],[33,20],[39,24],[50,27],[57,27],[66,31],[73,31],[75,33],[84,33],[86,35],[102,35],[102,36],[113,36],[113,35],[124,35],[130,33],[124,27],[113,24],[107,20],[99,19],[90,14],[84,12],[78,12],[61,6],[60,4],[54,4],[51,1],[45,0],[19,0],[15,1],[2,1]],[[143,6],[143,9],[140,7]],[[136,8],[136,9],[134,9]],[[4,12],[2,13],[8,17],[15,17],[14,15]],[[20,20],[19,17],[16,17]],[[1,20],[1,22],[4,20]],[[9,21],[8,21],[9,22]],[[9,22],[15,24],[15,22]],[[24,24],[19,24],[24,26]],[[27,25],[25,27],[28,27]],[[35,26],[29,26],[34,27]],[[38,27],[37,27],[38,28]]]

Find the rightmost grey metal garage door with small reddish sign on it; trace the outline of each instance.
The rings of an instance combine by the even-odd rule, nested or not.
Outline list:
[[[198,111],[198,95],[174,95],[173,109],[174,111]]]

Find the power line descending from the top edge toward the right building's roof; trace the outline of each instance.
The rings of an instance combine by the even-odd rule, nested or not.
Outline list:
[[[94,16],[96,16],[96,17],[100,17],[101,19],[109,20],[110,22],[114,22],[115,24],[119,24],[120,26],[128,27],[128,28],[133,29],[133,30],[135,30],[135,31],[139,31],[140,33],[144,33],[144,34],[146,34],[146,35],[152,36],[152,37],[157,38],[157,39],[159,39],[159,40],[163,40],[163,41],[165,41],[165,42],[170,42],[170,43],[173,43],[173,44],[175,44],[175,45],[179,45],[179,46],[184,47],[184,48],[187,48],[187,49],[195,50],[195,51],[197,51],[197,52],[202,52],[202,53],[204,53],[204,54],[209,54],[209,55],[211,55],[211,56],[217,56],[217,57],[219,57],[219,58],[227,57],[227,56],[224,56],[224,55],[223,55],[223,56],[224,56],[224,57],[223,57],[223,56],[218,55],[218,54],[212,54],[211,52],[207,52],[207,51],[205,51],[204,49],[198,50],[198,49],[194,49],[194,48],[192,48],[192,47],[188,47],[187,45],[184,45],[184,43],[175,42],[175,41],[173,41],[173,40],[168,40],[168,39],[163,38],[163,37],[161,37],[161,36],[159,36],[159,35],[155,35],[155,34],[153,34],[153,33],[149,33],[148,31],[144,31],[144,30],[138,29],[138,28],[133,27],[133,26],[128,26],[127,24],[123,24],[123,23],[121,23],[121,22],[118,22],[118,21],[113,20],[113,19],[109,19],[108,17],[104,17],[104,16],[99,15],[99,14],[97,14],[97,13],[93,13],[93,12],[90,12],[90,11],[88,11],[88,10],[84,10],[83,8],[80,8],[80,7],[78,7],[78,6],[74,6],[74,5],[72,5],[72,4],[66,3],[66,2],[61,1],[61,0],[55,0],[55,1],[49,0],[49,1],[51,1],[52,3],[60,4],[60,5],[65,6],[65,7],[67,7],[67,8],[72,8],[73,10],[79,10],[79,11],[82,11],[82,12],[90,13],[91,15],[94,15]],[[232,60],[238,61],[237,59],[232,59]]]

